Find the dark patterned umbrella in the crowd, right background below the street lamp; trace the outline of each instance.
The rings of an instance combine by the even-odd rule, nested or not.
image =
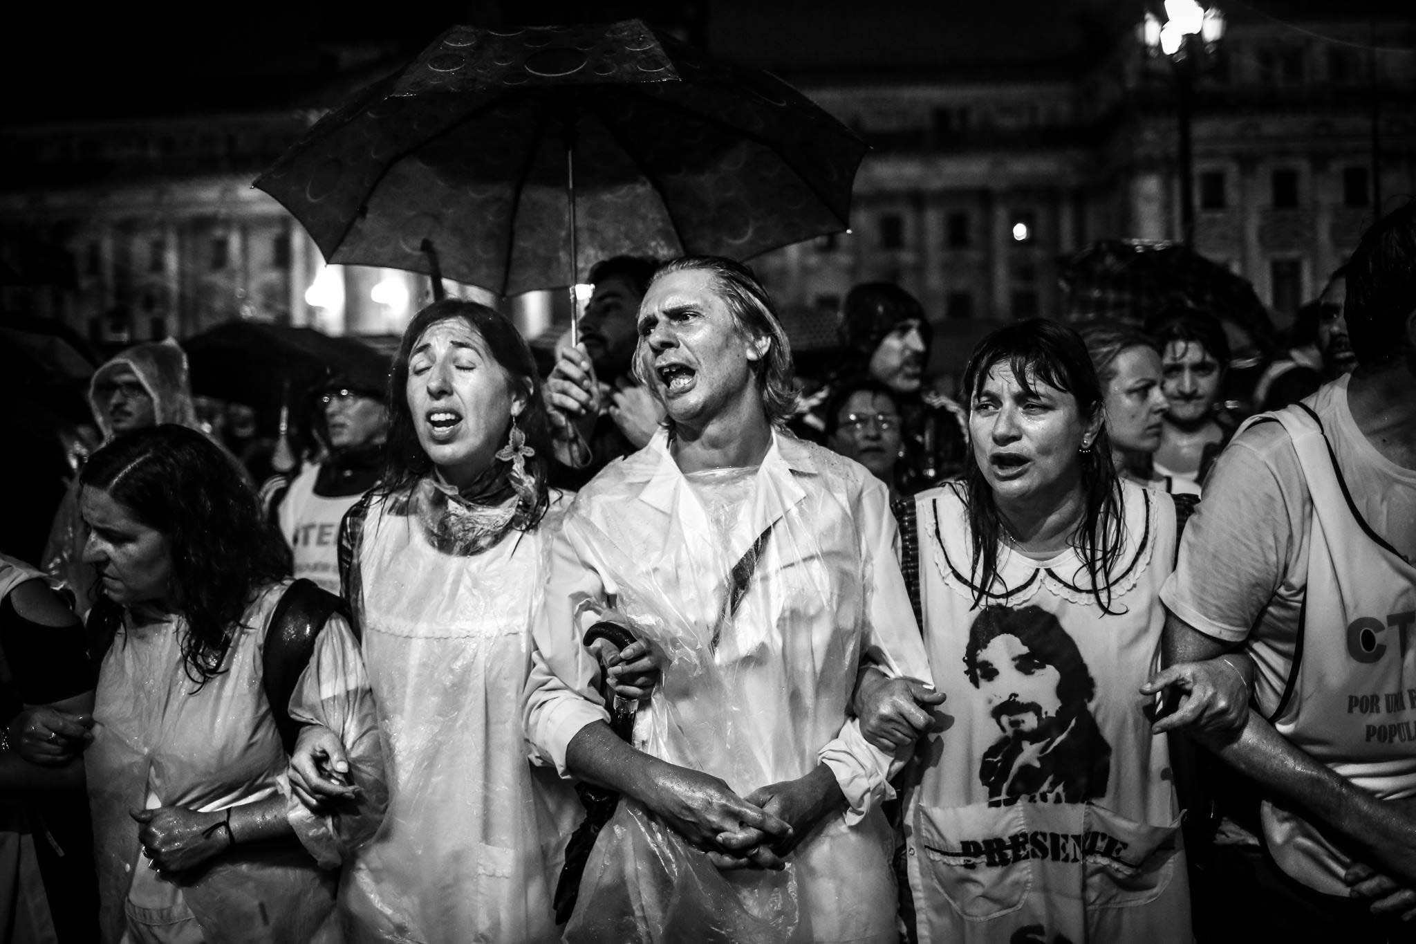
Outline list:
[[[1232,321],[1256,341],[1273,335],[1273,320],[1247,279],[1178,242],[1103,239],[1062,266],[1072,321],[1113,318],[1144,326],[1171,309]]]

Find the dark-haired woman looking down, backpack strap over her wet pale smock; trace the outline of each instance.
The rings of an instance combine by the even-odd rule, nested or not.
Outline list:
[[[336,872],[378,822],[377,719],[347,623],[309,593],[235,461],[154,426],[79,476],[101,660],[85,752],[103,941],[336,941]],[[302,599],[295,606],[295,597]],[[337,603],[324,594],[323,599]],[[290,797],[299,725],[338,737],[364,800],[313,817]]]

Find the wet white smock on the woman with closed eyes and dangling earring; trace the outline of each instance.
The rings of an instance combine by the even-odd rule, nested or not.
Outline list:
[[[433,490],[367,495],[346,519],[346,593],[361,628],[389,807],[340,889],[350,941],[549,941],[565,842],[583,815],[532,769],[521,732],[531,618],[564,511],[479,553],[428,538]]]

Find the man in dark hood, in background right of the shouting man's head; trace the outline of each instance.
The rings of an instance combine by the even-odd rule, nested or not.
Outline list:
[[[840,326],[844,355],[835,375],[801,399],[793,429],[820,439],[830,423],[823,409],[844,384],[869,379],[888,388],[899,405],[903,457],[896,468],[902,494],[949,478],[963,466],[967,433],[963,408],[925,376],[933,331],[925,309],[889,282],[867,282],[845,296]]]

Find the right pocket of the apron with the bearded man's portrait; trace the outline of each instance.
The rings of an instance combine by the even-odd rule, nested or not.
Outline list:
[[[1180,859],[1180,819],[1153,827],[1087,804],[1086,907],[1129,907],[1160,897]]]

